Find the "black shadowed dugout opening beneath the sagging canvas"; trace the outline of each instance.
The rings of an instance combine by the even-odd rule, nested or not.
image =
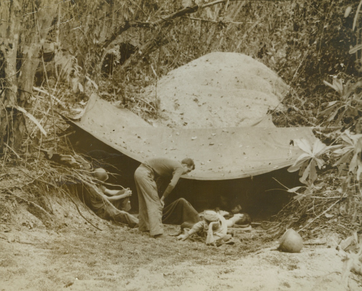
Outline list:
[[[70,141],[77,152],[92,160],[94,168],[103,167],[115,174],[110,175],[107,182],[132,190],[130,212],[137,213],[138,197],[134,172],[140,162],[120,153],[80,128],[76,128],[76,132],[70,136]],[[230,211],[232,207],[240,204],[242,211],[248,213],[253,220],[265,220],[278,213],[292,197],[282,185],[288,188],[300,185],[298,174],[290,173],[286,169],[241,179],[180,179],[166,204],[183,197],[199,212],[216,207]],[[159,183],[161,195],[168,181],[156,182]]]

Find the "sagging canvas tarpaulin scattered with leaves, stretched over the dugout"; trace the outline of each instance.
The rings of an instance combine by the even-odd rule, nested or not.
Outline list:
[[[269,122],[216,129],[154,127],[96,94],[80,119],[72,122],[139,162],[152,157],[193,158],[196,169],[182,178],[197,180],[245,178],[290,166],[303,153],[291,140],[316,139],[311,128],[276,128]]]

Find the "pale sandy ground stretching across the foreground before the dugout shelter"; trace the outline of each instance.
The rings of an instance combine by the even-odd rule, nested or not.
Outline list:
[[[102,231],[81,220],[55,230],[0,224],[0,290],[362,290],[361,276],[349,273],[349,288],[342,280],[337,236],[282,253],[258,228],[217,248],[97,224]]]

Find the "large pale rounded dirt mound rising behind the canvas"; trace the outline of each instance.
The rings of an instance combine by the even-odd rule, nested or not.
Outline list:
[[[181,66],[146,88],[159,99],[154,125],[186,128],[250,126],[289,90],[278,75],[239,53],[214,52]]]

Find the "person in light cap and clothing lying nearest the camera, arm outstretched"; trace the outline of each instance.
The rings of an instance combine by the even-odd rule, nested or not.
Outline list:
[[[184,233],[177,239],[185,241],[188,238],[195,241],[205,242],[206,245],[220,246],[232,243],[231,235],[227,234],[226,219],[212,210],[203,212],[203,220],[194,224],[191,229],[184,228]]]

